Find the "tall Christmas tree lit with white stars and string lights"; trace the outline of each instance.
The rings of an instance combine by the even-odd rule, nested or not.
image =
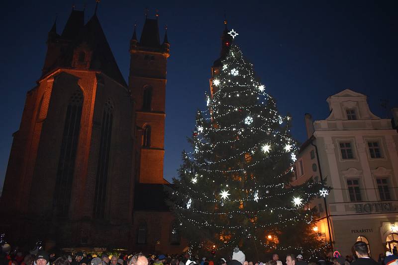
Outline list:
[[[193,152],[183,152],[174,179],[170,204],[182,235],[193,247],[219,253],[236,246],[256,257],[320,250],[312,231],[316,208],[308,202],[329,188],[312,180],[289,186],[298,150],[291,117],[279,114],[253,65],[227,44],[189,139]]]

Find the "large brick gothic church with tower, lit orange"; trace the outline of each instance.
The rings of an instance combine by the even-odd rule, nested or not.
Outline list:
[[[163,190],[169,49],[158,15],[146,17],[139,40],[135,28],[130,40],[127,84],[96,14],[85,22],[84,11],[72,10],[62,33],[54,23],[13,133],[0,207],[7,241],[169,254],[186,248]]]

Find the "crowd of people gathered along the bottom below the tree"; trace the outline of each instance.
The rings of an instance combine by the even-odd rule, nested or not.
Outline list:
[[[387,252],[380,255],[378,262],[369,257],[369,249],[366,243],[356,242],[354,244],[355,255],[340,256],[336,251],[333,257],[318,259],[317,262],[306,262],[303,256],[289,254],[286,255],[286,265],[398,265],[397,249],[393,253]],[[202,259],[189,257],[188,255],[166,256],[158,255],[145,256],[142,253],[135,255],[97,255],[78,252],[74,257],[64,255],[56,257],[55,253],[46,253],[40,248],[30,251],[23,255],[17,248],[11,251],[9,244],[2,246],[0,265],[284,265],[279,260],[278,254],[273,254],[272,260],[263,262],[253,262],[246,259],[245,254],[235,248],[232,255],[221,259]]]

